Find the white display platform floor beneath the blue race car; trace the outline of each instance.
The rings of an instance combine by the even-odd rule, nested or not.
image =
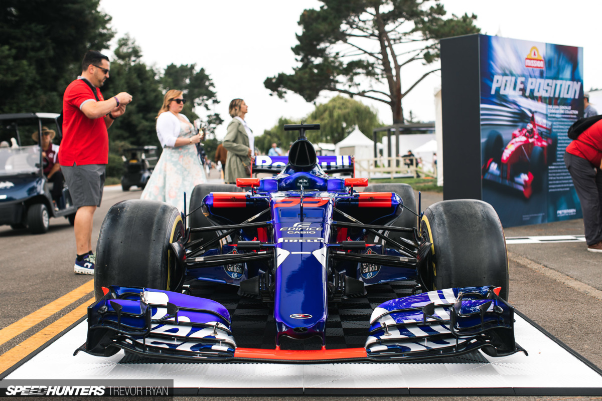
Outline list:
[[[602,371],[520,314],[522,352],[467,358],[467,363],[196,364],[120,363],[73,351],[85,341],[83,320],[0,381],[14,379],[173,379],[176,394],[568,394],[602,395]],[[477,361],[476,361],[477,360]],[[480,361],[478,361],[480,360]],[[486,362],[484,362],[486,360]]]

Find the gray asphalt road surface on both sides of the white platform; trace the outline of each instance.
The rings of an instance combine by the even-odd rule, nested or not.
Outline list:
[[[111,205],[140,197],[139,190],[122,192],[107,188],[102,206],[95,214],[93,243],[102,219]],[[441,194],[424,193],[423,207],[442,199]],[[505,229],[506,237],[583,234],[583,221]],[[602,369],[602,254],[586,251],[584,242],[508,245],[510,260],[509,301],[527,317],[563,341],[573,350]],[[73,274],[75,239],[66,219],[51,219],[48,233],[32,235],[0,226],[0,329],[43,307],[90,281],[92,276]],[[69,307],[0,345],[0,354],[35,334],[40,329],[81,305],[92,293],[82,296]],[[83,339],[82,339],[83,342]],[[78,346],[79,344],[75,344]],[[559,369],[562,367],[559,366]],[[2,369],[0,369],[2,370]],[[601,394],[602,396],[602,394]],[[195,400],[204,397],[194,397]],[[307,397],[244,397],[244,400],[297,400]],[[320,397],[320,400],[393,400],[402,397]],[[408,397],[403,397],[408,399]],[[466,399],[483,397],[415,397],[420,400]],[[31,398],[28,398],[31,400]],[[193,397],[178,398],[181,400]],[[217,397],[206,397],[216,400]],[[219,397],[234,400],[240,397]],[[495,397],[497,400],[569,400],[570,397]],[[600,399],[581,397],[580,399]]]

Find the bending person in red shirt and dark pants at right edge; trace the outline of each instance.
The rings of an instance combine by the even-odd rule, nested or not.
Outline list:
[[[564,160],[581,201],[588,251],[602,252],[602,120],[566,147]]]

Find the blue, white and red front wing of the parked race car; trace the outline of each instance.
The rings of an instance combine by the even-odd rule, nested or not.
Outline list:
[[[503,356],[526,351],[514,341],[514,308],[493,287],[436,290],[392,299],[374,309],[363,348],[321,350],[237,347],[228,310],[181,293],[112,286],[88,307],[83,350],[119,349],[147,357],[203,363],[402,362],[482,349]]]

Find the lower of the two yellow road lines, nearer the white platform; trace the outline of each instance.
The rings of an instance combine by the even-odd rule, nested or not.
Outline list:
[[[0,372],[5,372],[6,370],[10,369],[10,367],[12,367],[14,364],[45,344],[46,341],[51,340],[52,337],[81,319],[81,317],[87,313],[88,305],[92,304],[95,299],[96,298],[94,297],[88,299],[88,301],[79,305],[77,308],[70,311],[56,322],[51,323],[16,347],[13,347],[4,354],[0,355]],[[81,343],[83,344],[84,341],[85,339],[82,338]],[[73,350],[75,350],[75,347],[78,347],[79,345],[81,344],[73,344]]]

